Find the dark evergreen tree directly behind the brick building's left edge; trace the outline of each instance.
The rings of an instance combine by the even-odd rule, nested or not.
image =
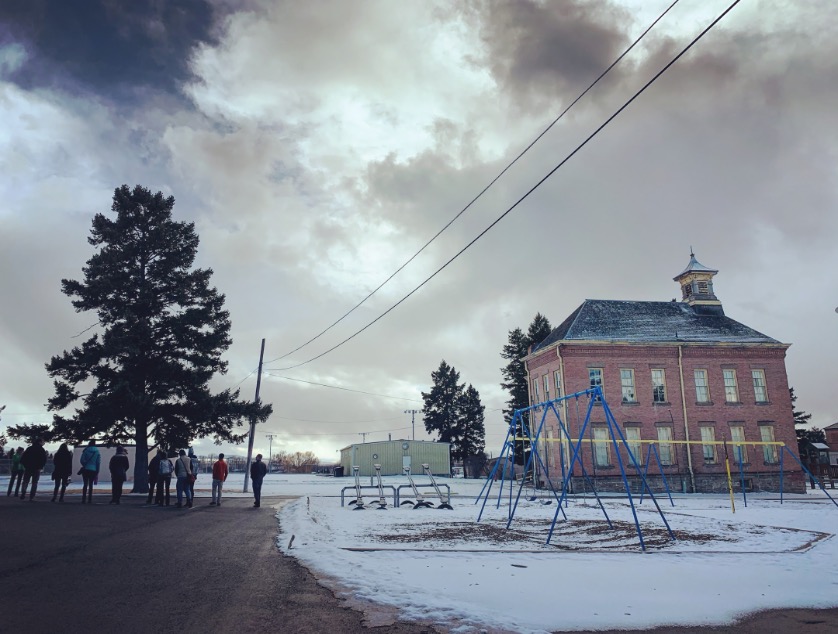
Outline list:
[[[501,368],[501,375],[504,380],[500,384],[503,389],[509,392],[509,400],[506,402],[506,408],[503,410],[504,420],[507,425],[512,421],[515,410],[524,409],[530,405],[530,387],[527,381],[527,371],[521,359],[529,354],[530,346],[544,341],[552,330],[550,320],[541,313],[536,313],[530,327],[527,329],[526,335],[520,328],[509,331],[508,342],[503,347],[500,355],[502,359],[508,361]],[[515,424],[515,437],[525,437],[525,430],[529,429],[530,413],[524,412]],[[529,442],[526,440],[516,440],[513,446],[515,449],[515,464],[525,464]]]

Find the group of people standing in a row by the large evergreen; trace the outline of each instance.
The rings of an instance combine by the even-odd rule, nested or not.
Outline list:
[[[11,453],[11,452],[10,452]],[[93,503],[93,486],[98,482],[101,469],[102,455],[96,442],[91,440],[84,448],[80,457],[81,467],[77,475],[82,477],[82,504]],[[29,501],[35,499],[38,490],[38,480],[41,471],[47,463],[47,452],[44,449],[44,441],[37,438],[27,449],[18,447],[12,454],[11,478],[9,480],[8,496],[14,492],[15,497]],[[189,453],[181,449],[174,462],[168,457],[165,451],[158,449],[157,454],[148,463],[148,499],[147,505],[169,506],[171,501],[172,477],[175,478],[175,491],[177,494],[177,508],[192,508],[195,500],[195,480],[198,477],[199,462],[192,448]],[[108,463],[111,473],[111,501],[110,504],[119,504],[122,498],[122,489],[128,479],[128,470],[131,465],[128,462],[128,452],[124,447],[118,446],[116,453]],[[52,501],[63,502],[64,493],[70,482],[73,471],[73,452],[70,451],[67,443],[62,443],[53,456],[52,479],[55,481]],[[268,469],[262,462],[262,454],[257,454],[256,459],[250,465],[250,479],[253,483],[253,506],[259,508],[262,501],[262,481],[267,475]],[[210,506],[221,506],[221,493],[224,482],[229,475],[227,462],[224,454],[218,454],[218,460],[212,465],[212,499]],[[31,484],[31,489],[29,486]],[[184,504],[185,499],[185,504]]]

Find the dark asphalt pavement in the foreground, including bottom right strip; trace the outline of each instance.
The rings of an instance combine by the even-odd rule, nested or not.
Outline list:
[[[276,548],[287,499],[196,499],[192,509],[144,506],[145,496],[63,504],[0,493],[0,632],[430,633],[422,624],[365,627],[305,568]],[[348,573],[350,571],[347,571]],[[621,630],[620,634],[626,634]],[[838,609],[778,610],[735,626],[658,634],[827,634]],[[600,633],[605,634],[605,633]]]

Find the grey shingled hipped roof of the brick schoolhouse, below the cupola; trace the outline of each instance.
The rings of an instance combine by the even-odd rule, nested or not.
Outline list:
[[[586,299],[533,352],[560,341],[774,343],[753,328],[682,302]]]

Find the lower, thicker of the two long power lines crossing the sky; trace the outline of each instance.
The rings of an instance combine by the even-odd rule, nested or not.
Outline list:
[[[603,130],[603,129],[604,129],[604,128],[608,125],[608,124],[610,124],[610,123],[611,123],[614,119],[616,119],[616,118],[617,118],[617,117],[618,117],[618,116],[619,116],[619,115],[620,115],[620,114],[621,114],[621,113],[622,113],[622,112],[623,112],[626,108],[628,108],[628,107],[629,107],[629,105],[631,105],[631,104],[634,102],[634,100],[635,100],[635,99],[637,99],[637,98],[638,98],[641,94],[643,94],[643,93],[646,91],[646,89],[647,89],[647,88],[649,88],[649,86],[651,86],[653,83],[655,83],[655,81],[657,81],[657,79],[658,79],[661,75],[663,75],[663,74],[664,74],[667,70],[669,70],[669,68],[671,68],[671,67],[672,67],[672,65],[673,65],[673,64],[675,64],[675,62],[677,62],[679,59],[681,59],[681,57],[683,57],[683,56],[684,56],[684,54],[686,54],[686,53],[687,53],[687,51],[689,51],[689,50],[690,50],[690,49],[691,49],[691,48],[692,48],[692,47],[696,44],[696,42],[698,42],[701,38],[703,38],[703,37],[704,37],[704,36],[705,36],[705,35],[706,35],[706,34],[707,34],[707,33],[708,33],[708,32],[709,32],[709,31],[710,31],[710,30],[711,30],[711,29],[712,29],[712,28],[716,25],[716,24],[718,24],[718,23],[719,23],[719,22],[720,22],[720,21],[721,21],[721,20],[722,20],[722,19],[723,19],[723,18],[724,18],[724,17],[725,17],[728,13],[729,13],[729,12],[730,12],[730,11],[731,11],[731,10],[732,10],[732,9],[733,9],[736,5],[737,5],[737,4],[739,4],[739,2],[740,2],[740,1],[741,1],[741,0],[734,0],[734,2],[733,2],[733,3],[732,3],[732,4],[731,4],[731,5],[730,5],[727,9],[725,9],[725,10],[724,10],[724,11],[723,11],[723,12],[722,12],[722,13],[721,13],[721,14],[720,14],[720,15],[719,15],[719,16],[718,16],[715,20],[713,20],[713,22],[711,22],[709,26],[707,26],[707,27],[706,27],[706,28],[705,28],[705,29],[704,29],[701,33],[699,33],[699,34],[698,34],[698,35],[697,35],[697,36],[696,36],[696,37],[695,37],[695,38],[694,38],[694,39],[693,39],[693,40],[692,40],[689,44],[687,44],[687,46],[686,46],[684,49],[682,49],[680,53],[678,53],[675,57],[673,57],[673,58],[672,58],[672,60],[670,60],[670,61],[669,61],[669,63],[667,63],[667,64],[666,64],[666,66],[664,66],[661,70],[659,70],[659,71],[658,71],[658,72],[657,72],[657,73],[656,73],[656,74],[655,74],[655,75],[654,75],[654,76],[653,76],[653,77],[652,77],[649,81],[647,81],[647,82],[643,85],[643,87],[642,87],[642,88],[640,88],[637,92],[635,92],[635,93],[634,93],[634,95],[632,95],[632,96],[631,96],[631,98],[629,98],[629,100],[628,100],[628,101],[626,101],[626,102],[625,102],[622,106],[620,106],[620,108],[618,108],[618,109],[617,109],[617,110],[616,110],[616,111],[615,111],[615,112],[614,112],[614,113],[613,113],[610,117],[608,117],[608,118],[607,118],[607,119],[606,119],[606,120],[605,120],[605,121],[604,121],[604,122],[603,122],[603,123],[602,123],[602,124],[601,124],[601,125],[597,128],[597,129],[596,129],[596,130],[594,130],[594,131],[593,131],[590,135],[588,135],[588,137],[587,137],[584,141],[582,141],[579,145],[577,145],[577,146],[576,146],[576,148],[575,148],[572,152],[570,152],[570,154],[568,154],[568,155],[567,155],[564,159],[562,159],[562,160],[558,163],[558,165],[556,165],[553,169],[551,169],[549,172],[547,172],[547,174],[546,174],[544,177],[542,177],[542,178],[541,178],[541,180],[539,180],[539,181],[538,181],[535,185],[533,185],[533,186],[532,186],[532,187],[531,187],[531,188],[530,188],[530,189],[529,189],[529,190],[528,190],[528,191],[527,191],[527,192],[526,192],[523,196],[521,196],[521,197],[520,197],[517,201],[515,201],[515,203],[514,203],[514,204],[512,204],[512,206],[510,206],[510,207],[509,207],[506,211],[504,211],[504,212],[503,212],[500,216],[498,216],[498,217],[497,217],[497,218],[496,218],[496,219],[495,219],[495,220],[494,220],[494,221],[493,221],[493,222],[492,222],[492,223],[491,223],[488,227],[486,227],[483,231],[481,231],[479,234],[477,234],[477,236],[476,236],[473,240],[471,240],[471,242],[469,242],[468,244],[466,244],[466,246],[464,246],[462,249],[460,249],[460,250],[459,250],[459,251],[458,251],[458,252],[457,252],[457,253],[456,253],[453,257],[451,257],[451,258],[450,258],[447,262],[445,262],[445,264],[443,264],[443,265],[442,265],[441,267],[439,267],[436,271],[434,271],[434,272],[433,272],[430,276],[428,276],[427,278],[425,278],[425,280],[424,280],[422,283],[420,283],[417,287],[415,287],[415,288],[414,288],[412,291],[410,291],[407,295],[405,295],[405,296],[404,296],[404,297],[402,297],[402,298],[401,298],[398,302],[396,302],[395,304],[393,304],[392,306],[390,306],[390,308],[388,308],[387,310],[385,310],[385,311],[384,311],[383,313],[381,313],[378,317],[376,317],[376,318],[375,318],[375,319],[373,319],[371,322],[369,322],[366,326],[364,326],[364,327],[363,327],[363,328],[361,328],[360,330],[355,331],[353,334],[351,334],[350,336],[348,336],[346,339],[344,339],[343,341],[341,341],[341,342],[339,342],[339,343],[335,344],[334,346],[332,346],[331,348],[327,349],[326,351],[321,352],[320,354],[318,354],[318,355],[316,355],[316,356],[314,356],[314,357],[312,357],[312,358],[310,358],[310,359],[308,359],[308,360],[306,360],[306,361],[301,361],[300,363],[296,363],[296,364],[294,364],[294,365],[290,365],[290,366],[285,367],[285,368],[274,368],[274,369],[275,369],[275,370],[278,370],[278,371],[292,370],[292,369],[294,369],[294,368],[299,368],[299,367],[304,366],[304,365],[306,365],[306,364],[308,364],[308,363],[311,363],[312,361],[316,361],[317,359],[320,359],[320,358],[322,358],[322,357],[326,356],[326,355],[327,355],[327,354],[329,354],[330,352],[333,352],[334,350],[337,350],[338,348],[340,348],[340,347],[341,347],[342,345],[344,345],[345,343],[347,343],[347,342],[351,341],[352,339],[354,339],[355,337],[357,337],[358,335],[360,335],[360,334],[361,334],[362,332],[364,332],[367,328],[369,328],[370,326],[372,326],[372,325],[376,324],[379,320],[381,320],[383,317],[385,317],[386,315],[388,315],[391,311],[393,311],[395,308],[397,308],[399,305],[401,305],[403,302],[405,302],[405,301],[406,301],[409,297],[411,297],[411,296],[412,296],[412,295],[413,295],[416,291],[418,291],[418,290],[419,290],[419,289],[421,289],[423,286],[425,286],[425,284],[427,284],[428,282],[430,282],[430,281],[431,281],[434,277],[436,277],[436,276],[437,276],[440,272],[442,272],[445,268],[447,268],[449,264],[451,264],[454,260],[456,260],[457,258],[459,258],[459,257],[460,257],[463,253],[465,253],[465,252],[466,252],[469,248],[471,248],[471,246],[472,246],[475,242],[477,242],[478,240],[480,240],[480,238],[482,238],[482,237],[483,237],[484,235],[486,235],[489,231],[491,231],[491,230],[495,227],[495,225],[497,225],[497,224],[498,224],[501,220],[503,220],[503,219],[504,219],[507,215],[509,215],[509,214],[510,214],[510,213],[511,213],[514,209],[516,209],[516,208],[518,207],[518,205],[520,205],[520,204],[521,204],[524,200],[526,200],[527,198],[529,198],[530,194],[532,194],[532,193],[533,193],[536,189],[538,189],[539,187],[541,187],[541,185],[543,185],[543,184],[544,184],[544,182],[545,182],[548,178],[550,178],[550,177],[551,177],[551,176],[552,176],[552,175],[553,175],[556,171],[558,171],[558,170],[559,170],[559,168],[561,168],[561,167],[562,167],[565,163],[567,163],[567,162],[568,162],[571,158],[573,158],[573,157],[574,157],[574,156],[575,156],[575,155],[576,155],[576,154],[577,154],[577,153],[578,153],[578,152],[579,152],[579,151],[580,151],[583,147],[585,147],[585,146],[586,146],[586,145],[587,145],[587,144],[591,141],[591,139],[593,139],[595,136],[597,136],[597,135],[598,135],[598,134],[599,134],[599,133],[600,133],[600,132],[601,132],[601,131],[602,131],[602,130]],[[276,361],[276,359],[274,359],[274,361]]]

